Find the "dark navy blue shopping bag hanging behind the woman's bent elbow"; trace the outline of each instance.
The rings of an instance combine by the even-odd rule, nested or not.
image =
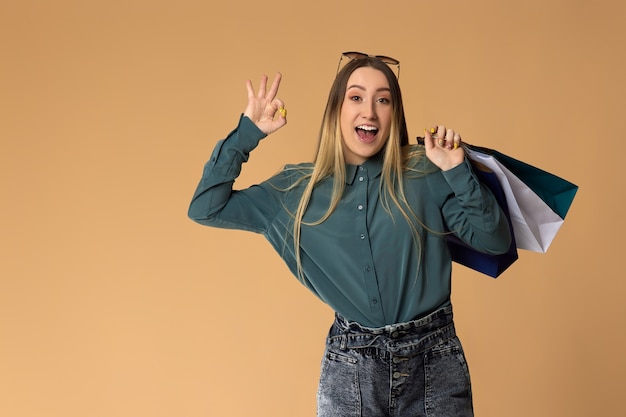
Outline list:
[[[478,180],[491,190],[496,198],[496,201],[507,217],[509,230],[511,232],[511,245],[506,253],[500,255],[489,255],[478,252],[452,234],[447,235],[447,244],[454,262],[474,269],[478,272],[482,272],[483,274],[489,275],[493,278],[497,278],[518,259],[515,233],[511,217],[509,215],[506,196],[502,186],[500,185],[498,177],[493,171],[485,169],[485,167],[479,164],[472,165]]]

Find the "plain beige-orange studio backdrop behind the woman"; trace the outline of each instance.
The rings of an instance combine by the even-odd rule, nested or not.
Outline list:
[[[314,416],[332,312],[186,210],[248,78],[289,124],[239,184],[311,159],[344,50],[401,60],[411,136],[581,187],[547,254],[455,267],[477,416],[622,415],[624,4],[1,0],[0,415]]]

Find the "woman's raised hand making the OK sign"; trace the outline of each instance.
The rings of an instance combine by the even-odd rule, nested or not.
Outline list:
[[[278,87],[282,75],[276,74],[274,82],[269,90],[267,90],[267,75],[261,77],[259,92],[255,93],[252,82],[248,80],[246,87],[248,88],[248,106],[244,112],[250,120],[266,135],[283,127],[287,124],[287,110],[285,104],[279,98],[276,98]],[[278,114],[277,114],[278,113]]]

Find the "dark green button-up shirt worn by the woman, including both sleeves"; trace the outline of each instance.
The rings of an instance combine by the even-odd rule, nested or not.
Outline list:
[[[249,153],[265,137],[252,121],[221,140],[206,163],[189,207],[194,221],[263,234],[296,274],[293,218],[312,164],[288,165],[244,190],[233,190]],[[449,303],[451,258],[445,232],[453,231],[477,250],[506,252],[508,224],[491,192],[480,185],[469,163],[441,171],[423,156],[416,167],[427,174],[404,177],[408,204],[420,219],[420,238],[395,205],[383,206],[382,157],[346,165],[346,188],[323,223],[307,226],[327,211],[332,178],[316,185],[301,229],[303,283],[349,320],[369,327],[405,322]],[[428,230],[424,228],[426,226]]]

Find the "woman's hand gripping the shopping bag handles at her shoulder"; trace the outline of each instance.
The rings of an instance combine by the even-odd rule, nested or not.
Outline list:
[[[452,169],[463,162],[465,151],[460,145],[461,136],[452,129],[446,129],[445,126],[425,129],[426,156],[442,171]]]

